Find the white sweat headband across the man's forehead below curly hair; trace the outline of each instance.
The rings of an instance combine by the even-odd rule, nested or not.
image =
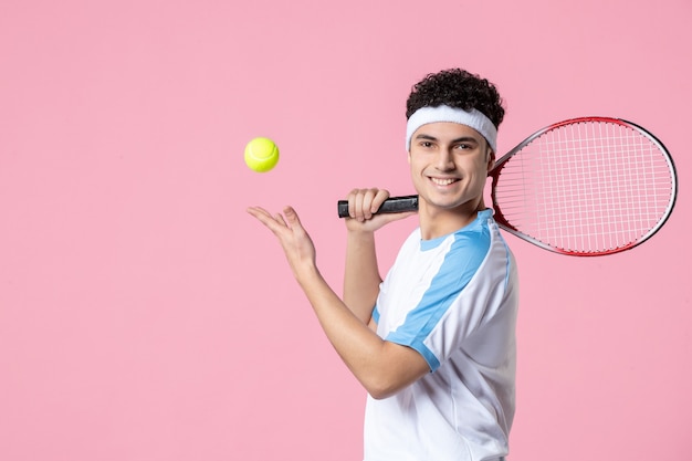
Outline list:
[[[497,151],[497,128],[490,118],[474,108],[463,111],[450,106],[427,106],[416,111],[406,124],[406,150],[411,149],[411,137],[418,128],[438,122],[452,122],[469,126],[483,135],[493,151]]]

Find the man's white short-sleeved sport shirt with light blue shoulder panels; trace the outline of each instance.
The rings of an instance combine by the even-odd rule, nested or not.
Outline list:
[[[377,334],[418,350],[430,374],[368,396],[365,461],[478,461],[507,454],[518,283],[492,210],[459,231],[406,240],[381,283]]]

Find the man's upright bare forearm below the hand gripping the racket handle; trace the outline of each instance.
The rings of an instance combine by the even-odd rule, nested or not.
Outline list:
[[[344,303],[367,324],[381,283],[374,232],[349,231],[344,271]]]

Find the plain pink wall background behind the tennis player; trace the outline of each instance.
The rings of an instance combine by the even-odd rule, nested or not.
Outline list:
[[[340,291],[353,187],[410,193],[403,103],[463,66],[500,150],[563,118],[656,133],[681,196],[600,259],[522,271],[513,461],[692,459],[692,3],[125,0],[0,4],[0,459],[359,460],[364,391],[273,238],[302,213]],[[273,137],[279,166],[243,164]],[[381,231],[382,266],[415,222]]]

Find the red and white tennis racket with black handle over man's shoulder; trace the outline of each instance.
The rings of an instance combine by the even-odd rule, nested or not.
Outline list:
[[[547,126],[489,172],[497,224],[545,250],[597,256],[632,249],[661,229],[678,193],[663,144],[631,122],[580,117]],[[418,197],[387,199],[378,212],[412,211]],[[338,202],[348,217],[348,202]]]

